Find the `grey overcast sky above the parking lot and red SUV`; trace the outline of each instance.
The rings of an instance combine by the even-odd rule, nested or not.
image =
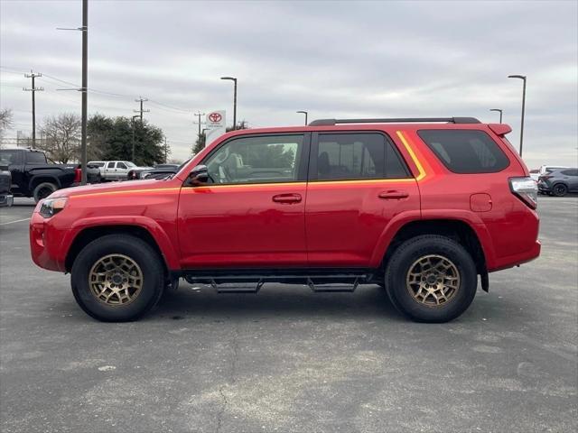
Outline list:
[[[323,117],[451,116],[498,122],[519,143],[527,75],[524,156],[578,165],[578,2],[89,2],[89,114],[145,118],[172,155],[190,155],[193,112],[227,109],[238,78],[238,119],[252,127]],[[80,113],[81,2],[0,0],[0,106],[14,130]],[[56,78],[56,79],[55,79]],[[96,93],[107,92],[106,93]]]

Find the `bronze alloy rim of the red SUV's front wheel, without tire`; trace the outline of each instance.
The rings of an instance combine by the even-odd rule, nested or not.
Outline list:
[[[89,286],[94,297],[109,307],[128,305],[143,289],[143,272],[130,257],[109,254],[90,269]]]

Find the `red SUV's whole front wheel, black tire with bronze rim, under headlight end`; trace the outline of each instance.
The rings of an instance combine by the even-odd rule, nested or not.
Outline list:
[[[135,320],[163,294],[161,258],[143,240],[106,235],[85,246],[72,265],[72,293],[89,316],[107,322]]]

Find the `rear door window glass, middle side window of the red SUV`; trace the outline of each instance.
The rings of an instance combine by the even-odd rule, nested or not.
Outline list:
[[[384,134],[319,134],[316,180],[407,178],[409,171]],[[315,172],[316,171],[316,172]]]

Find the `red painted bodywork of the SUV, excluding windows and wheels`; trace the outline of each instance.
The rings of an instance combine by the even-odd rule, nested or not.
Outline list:
[[[499,173],[458,175],[421,141],[419,129],[477,129],[508,155]],[[503,129],[500,129],[503,128]],[[67,207],[50,219],[34,211],[34,263],[65,271],[70,245],[95,226],[139,226],[172,270],[216,267],[378,267],[396,233],[424,219],[471,226],[489,271],[536,258],[538,217],[509,190],[527,168],[495,124],[347,124],[253,129],[223,135],[172,180],[138,180],[62,189]],[[244,186],[183,186],[191,169],[224,140],[243,134],[382,131],[415,179]],[[407,146],[396,134],[403,132]],[[412,154],[414,156],[412,156]]]

